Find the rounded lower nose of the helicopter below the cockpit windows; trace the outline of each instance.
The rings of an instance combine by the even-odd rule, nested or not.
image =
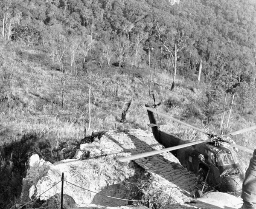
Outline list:
[[[244,178],[240,176],[227,176],[223,178],[224,192],[234,192],[235,195],[239,195],[242,191]]]

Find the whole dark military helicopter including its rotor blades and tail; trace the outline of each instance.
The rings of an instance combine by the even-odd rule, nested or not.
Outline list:
[[[160,113],[156,111],[156,107],[159,104],[145,104],[150,121],[148,126],[151,127],[156,141],[166,148],[162,150],[154,150],[148,153],[132,155],[119,160],[130,161],[159,153],[171,152],[180,161],[180,164],[183,165],[184,168],[198,176],[198,185],[201,185],[202,189],[197,186],[198,189],[195,194],[196,198],[201,197],[208,186],[220,192],[230,192],[235,195],[241,194],[245,175],[239,164],[235,150],[238,148],[251,154],[253,154],[253,150],[225,140],[222,134],[220,136],[213,135],[190,124],[186,124],[183,121],[167,116],[164,113]],[[190,140],[185,140],[175,135],[165,133],[160,130],[159,127],[162,123],[157,124],[154,114],[198,130],[206,134],[209,139],[191,142]],[[253,129],[256,129],[256,126],[232,132],[227,135],[235,136]],[[232,147],[235,148],[232,149]]]

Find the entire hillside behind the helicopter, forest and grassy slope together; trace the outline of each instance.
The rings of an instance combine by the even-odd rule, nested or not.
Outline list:
[[[152,93],[215,133],[256,123],[255,0],[1,0],[0,34],[0,208],[29,154],[54,162],[93,132],[147,129]]]

